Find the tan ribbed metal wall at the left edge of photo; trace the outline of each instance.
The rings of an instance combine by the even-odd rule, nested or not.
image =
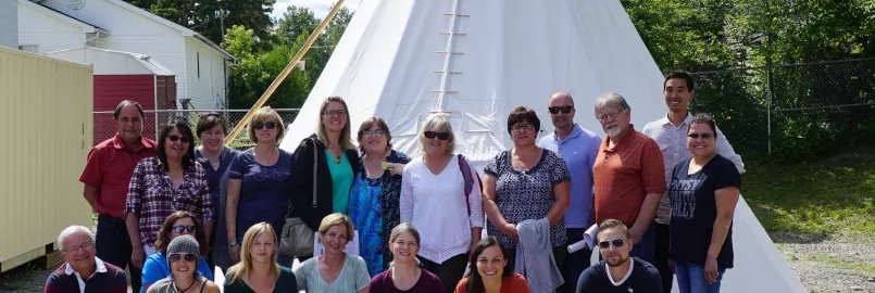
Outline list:
[[[91,66],[0,48],[0,262],[91,227],[78,178],[92,90]]]

